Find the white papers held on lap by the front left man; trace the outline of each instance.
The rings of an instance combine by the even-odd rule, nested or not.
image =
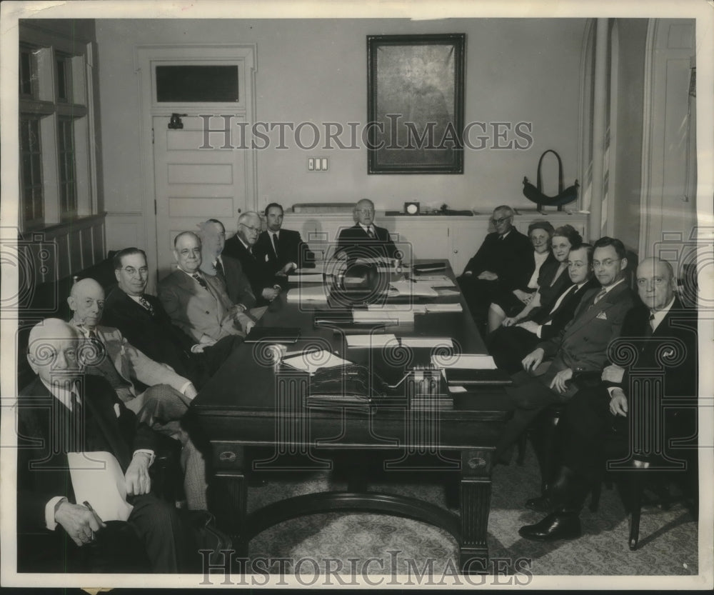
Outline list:
[[[102,521],[126,521],[131,506],[119,461],[111,452],[68,452],[69,475],[76,502],[89,502]]]

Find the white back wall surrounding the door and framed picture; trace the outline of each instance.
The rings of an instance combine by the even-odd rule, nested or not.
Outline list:
[[[108,236],[125,245],[139,230],[139,81],[141,44],[256,44],[257,117],[261,121],[366,123],[366,36],[466,33],[465,120],[533,122],[528,151],[466,150],[463,175],[368,175],[366,149],[258,151],[258,206],[281,201],[354,201],[378,209],[419,199],[436,206],[489,211],[531,205],[524,175],[535,179],[540,153],[563,158],[565,184],[577,175],[580,49],[585,19],[106,20],[99,44],[104,194],[110,213],[131,221]],[[308,155],[331,158],[331,170],[308,173]],[[127,237],[129,234],[129,239]],[[137,237],[142,237],[139,234]]]

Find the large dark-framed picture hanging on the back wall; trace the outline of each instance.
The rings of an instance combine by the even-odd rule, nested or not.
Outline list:
[[[463,174],[466,34],[367,37],[368,173]]]

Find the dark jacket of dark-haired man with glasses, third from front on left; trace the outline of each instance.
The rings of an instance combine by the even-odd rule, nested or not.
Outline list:
[[[149,358],[169,364],[178,374],[186,374],[192,368],[191,346],[196,341],[171,322],[159,298],[144,294],[144,299],[154,309],[153,316],[115,287],[106,296],[102,320],[119,329],[131,345]]]

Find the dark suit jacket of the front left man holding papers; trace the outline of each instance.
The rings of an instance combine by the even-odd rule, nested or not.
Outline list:
[[[114,454],[121,470],[131,463],[134,451],[156,449],[154,433],[145,424],[136,424],[134,414],[126,409],[104,379],[84,376],[80,396],[85,419],[84,444],[70,444],[66,434],[71,427],[71,413],[36,378],[20,392],[17,401],[18,531],[43,531],[45,505],[55,496],[66,496],[73,504],[74,492],[69,476],[67,453],[102,450]],[[76,448],[80,446],[80,448]]]

